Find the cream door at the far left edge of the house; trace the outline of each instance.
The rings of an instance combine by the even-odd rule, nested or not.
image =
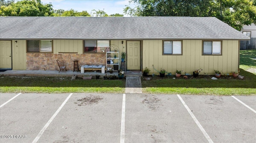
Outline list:
[[[12,68],[11,41],[0,41],[0,68]]]

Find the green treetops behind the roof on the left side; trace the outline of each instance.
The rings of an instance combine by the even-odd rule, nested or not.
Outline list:
[[[109,16],[103,10],[78,12],[76,10],[53,10],[52,4],[42,4],[41,0],[0,0],[0,16]],[[124,16],[123,14],[111,14],[110,16]]]

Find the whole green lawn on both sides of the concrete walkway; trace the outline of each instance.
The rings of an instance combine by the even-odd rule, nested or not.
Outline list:
[[[240,75],[244,80],[212,76],[194,79],[142,78],[142,92],[152,94],[256,95],[256,50],[240,51]],[[25,93],[124,93],[125,80],[71,80],[71,77],[0,76],[0,92]]]

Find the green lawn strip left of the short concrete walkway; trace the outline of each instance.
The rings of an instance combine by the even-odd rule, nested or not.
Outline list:
[[[124,93],[125,80],[71,80],[71,77],[1,76],[0,92],[70,93],[98,92]]]

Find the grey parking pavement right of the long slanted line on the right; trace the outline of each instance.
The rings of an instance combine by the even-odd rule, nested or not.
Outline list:
[[[231,96],[181,95],[213,142],[254,143],[256,114]],[[256,96],[238,96],[247,103]],[[255,102],[254,102],[255,104]]]

